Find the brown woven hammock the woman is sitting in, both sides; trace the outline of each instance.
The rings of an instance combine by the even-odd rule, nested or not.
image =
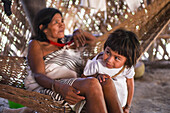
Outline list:
[[[142,56],[170,22],[169,0],[157,0],[149,5],[147,9],[147,14],[144,13],[145,10],[143,9],[105,35],[100,36],[93,47],[86,48],[84,58],[93,57],[99,51],[102,51],[103,43],[109,33],[120,27],[134,31],[139,36]],[[140,27],[140,30],[136,31],[136,25]],[[72,112],[69,108],[64,108],[60,104],[53,102],[50,96],[24,89],[23,79],[27,75],[27,65],[24,57],[0,56],[0,64],[0,97],[20,103],[42,113]]]

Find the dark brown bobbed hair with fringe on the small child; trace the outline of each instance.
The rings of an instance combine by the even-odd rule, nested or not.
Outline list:
[[[140,43],[137,36],[124,29],[118,29],[111,33],[104,44],[104,49],[107,46],[126,57],[125,65],[128,68],[136,64],[140,55]]]

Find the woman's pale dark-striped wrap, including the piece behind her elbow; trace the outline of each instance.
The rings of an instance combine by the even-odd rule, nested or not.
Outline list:
[[[83,60],[80,53],[73,49],[62,49],[45,57],[46,75],[51,79],[60,78],[76,78],[80,67],[83,65]],[[78,69],[76,69],[78,68]],[[33,73],[28,67],[28,76],[25,79],[27,90],[37,91],[41,88],[34,80]],[[38,88],[38,89],[37,89]]]

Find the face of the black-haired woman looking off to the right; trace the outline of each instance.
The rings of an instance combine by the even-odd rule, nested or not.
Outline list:
[[[59,13],[56,13],[51,22],[48,24],[48,27],[44,30],[47,38],[49,40],[55,40],[64,37],[65,24],[62,16]]]

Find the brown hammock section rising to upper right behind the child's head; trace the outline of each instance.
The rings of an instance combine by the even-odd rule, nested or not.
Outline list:
[[[160,9],[158,9],[158,6]],[[153,7],[157,7],[153,10]],[[170,2],[168,0],[164,1],[154,1],[153,4],[149,5],[147,8],[138,11],[135,15],[129,14],[129,18],[123,21],[118,26],[115,26],[112,30],[100,36],[96,40],[96,44],[93,49],[87,51],[87,55],[97,54],[102,51],[105,40],[108,35],[118,28],[126,28],[130,31],[135,32],[139,40],[141,41],[141,56],[148,50],[156,38],[162,33],[166,26],[170,23]],[[166,51],[166,50],[165,50]],[[166,52],[165,52],[166,53]],[[89,57],[87,56],[87,57]],[[140,56],[140,57],[141,57]],[[168,55],[169,56],[169,55]]]

